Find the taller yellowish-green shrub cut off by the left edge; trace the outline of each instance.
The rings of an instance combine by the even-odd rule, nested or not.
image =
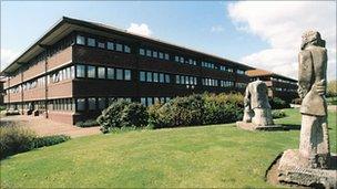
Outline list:
[[[32,141],[35,134],[30,129],[19,126],[0,127],[0,157],[1,159],[33,148]]]

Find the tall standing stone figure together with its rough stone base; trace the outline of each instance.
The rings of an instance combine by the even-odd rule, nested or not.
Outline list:
[[[330,155],[326,91],[327,50],[319,32],[303,35],[298,54],[298,94],[302,127],[299,149],[284,151],[278,181],[309,187],[337,188],[336,156]]]

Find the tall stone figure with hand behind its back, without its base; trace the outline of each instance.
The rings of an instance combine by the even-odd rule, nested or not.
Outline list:
[[[300,50],[298,94],[303,102],[299,153],[313,168],[327,168],[330,156],[325,99],[327,50],[317,31],[304,33]]]

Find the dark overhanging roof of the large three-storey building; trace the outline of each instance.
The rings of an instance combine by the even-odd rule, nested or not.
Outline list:
[[[69,33],[73,31],[82,31],[82,32],[89,32],[100,35],[108,35],[109,33],[113,32],[122,36],[133,38],[135,40],[144,40],[152,43],[157,43],[161,45],[166,45],[173,49],[177,50],[184,50],[190,51],[192,53],[197,53],[201,55],[205,55],[208,57],[217,59],[221,61],[229,62],[239,65],[241,67],[245,69],[255,69],[253,66],[242,64],[235,61],[231,61],[214,54],[208,54],[205,52],[201,52],[197,50],[193,50],[190,48],[185,48],[182,45],[173,44],[170,42],[165,42],[159,39],[139,35],[135,33],[127,32],[126,30],[121,30],[111,25],[105,25],[98,22],[90,22],[90,21],[83,21],[78,20],[73,18],[62,17],[61,20],[59,20],[54,25],[52,25],[51,29],[49,29],[39,40],[37,40],[32,45],[30,45],[19,57],[17,57],[11,64],[9,64],[1,73],[0,75],[7,75],[9,73],[16,72],[22,64],[25,64],[31,59],[40,54],[44,51],[43,46],[49,46],[68,35]]]

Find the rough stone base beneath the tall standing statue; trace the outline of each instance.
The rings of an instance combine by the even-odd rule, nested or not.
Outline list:
[[[328,169],[314,169],[300,158],[298,150],[288,149],[267,170],[267,180],[272,183],[337,188],[337,157],[331,155],[330,158],[333,164]]]

